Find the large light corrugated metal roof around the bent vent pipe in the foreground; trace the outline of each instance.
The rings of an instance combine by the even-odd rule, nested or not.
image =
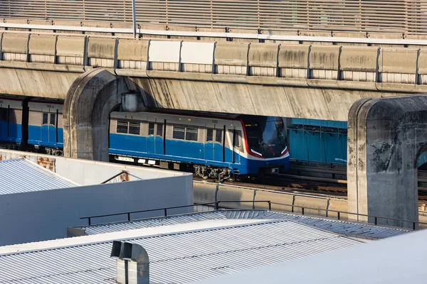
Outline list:
[[[79,238],[93,236],[69,240]],[[151,283],[190,283],[361,244],[285,220],[127,241],[147,250]],[[3,255],[0,256],[0,283],[115,283],[111,248],[112,242],[105,241]]]

